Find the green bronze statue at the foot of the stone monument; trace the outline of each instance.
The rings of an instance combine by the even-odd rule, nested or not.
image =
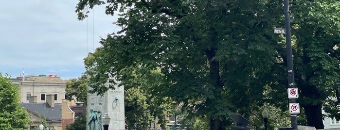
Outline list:
[[[89,130],[102,130],[102,114],[100,111],[89,109]]]

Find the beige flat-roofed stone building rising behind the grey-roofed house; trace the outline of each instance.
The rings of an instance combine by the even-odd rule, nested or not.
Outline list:
[[[62,103],[65,99],[66,81],[57,75],[28,75],[11,79],[19,85],[21,103],[28,103],[29,97],[36,96],[37,103],[46,102],[46,96],[53,94],[54,103]]]

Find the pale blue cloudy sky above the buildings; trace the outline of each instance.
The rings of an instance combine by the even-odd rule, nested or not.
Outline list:
[[[83,59],[99,40],[119,31],[104,6],[77,19],[77,0],[2,0],[0,4],[0,73],[12,78],[54,74],[63,80],[85,72]]]

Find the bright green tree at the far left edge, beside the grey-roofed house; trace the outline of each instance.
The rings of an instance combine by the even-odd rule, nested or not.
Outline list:
[[[0,73],[0,128],[2,130],[27,130],[31,123],[29,114],[20,107],[18,86]]]

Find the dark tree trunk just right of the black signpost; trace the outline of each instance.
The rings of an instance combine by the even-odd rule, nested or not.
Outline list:
[[[323,129],[322,104],[304,106],[304,113],[307,117],[307,125],[316,129]]]

